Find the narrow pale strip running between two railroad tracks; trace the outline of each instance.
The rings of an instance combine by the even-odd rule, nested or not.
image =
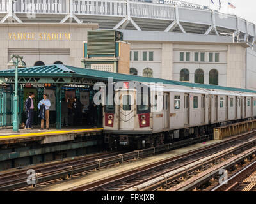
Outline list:
[[[125,164],[121,164],[111,168],[100,169],[95,172],[89,173],[88,175],[84,175],[83,177],[65,180],[57,184],[50,184],[49,186],[40,187],[40,189],[32,189],[31,191],[67,191],[68,189],[72,189],[74,187],[81,186],[83,184],[88,184],[96,180],[105,179],[106,177],[111,177],[113,175],[118,175],[119,173],[124,173],[125,171],[134,170],[141,166],[155,163],[163,159],[180,156],[182,154],[186,154],[193,150],[201,149],[202,147],[207,147],[209,145],[220,143],[220,142],[221,142],[220,140],[211,140],[204,143],[198,143],[188,147],[183,147],[181,149],[172,150],[164,154],[159,154],[156,156],[147,157],[145,159],[136,160],[132,163],[125,163]]]

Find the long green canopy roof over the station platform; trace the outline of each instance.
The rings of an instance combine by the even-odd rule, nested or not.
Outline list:
[[[240,89],[233,87],[223,87],[219,85],[195,84],[189,82],[178,82],[173,80],[164,80],[161,78],[141,77],[136,75],[125,75],[120,73],[112,73],[107,71],[99,71],[94,69],[76,68],[63,64],[52,64],[50,66],[35,66],[31,68],[19,68],[19,77],[78,77],[87,78],[88,80],[108,81],[112,77],[114,81],[137,81],[137,82],[160,82],[163,84],[183,85],[186,87],[195,87],[201,89],[222,89],[226,91],[252,92],[250,89]],[[0,71],[0,78],[15,77],[15,69]]]

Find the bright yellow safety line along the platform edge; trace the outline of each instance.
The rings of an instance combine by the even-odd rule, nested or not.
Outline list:
[[[76,130],[69,130],[69,131],[52,131],[52,132],[42,132],[42,133],[26,133],[26,134],[19,134],[19,135],[5,135],[5,136],[0,136],[1,139],[5,138],[15,138],[15,137],[20,137],[20,136],[40,136],[40,135],[51,135],[55,133],[76,133],[76,132],[83,132],[83,131],[100,131],[103,128],[91,128],[91,129],[76,129]]]

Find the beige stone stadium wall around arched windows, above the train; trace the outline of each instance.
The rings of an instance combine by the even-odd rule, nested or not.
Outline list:
[[[137,43],[130,42],[132,51],[139,51],[138,61],[131,61],[131,68],[138,70],[138,75],[142,75],[143,69],[149,67],[153,69],[153,77],[165,78],[169,80],[180,80],[180,70],[189,70],[189,81],[195,82],[195,71],[200,68],[204,71],[204,84],[209,84],[209,72],[211,69],[218,71],[219,85],[228,87],[245,88],[245,50],[244,45],[216,45],[216,43]],[[142,61],[143,51],[154,51],[154,61]],[[252,51],[252,50],[251,50]],[[180,62],[180,52],[184,52],[184,61]],[[186,62],[186,52],[190,52],[190,61]],[[194,61],[195,52],[199,53],[199,61]],[[205,53],[205,61],[200,62],[200,52]],[[213,62],[209,62],[209,53],[213,53]],[[219,62],[215,62],[215,53],[219,53]],[[248,75],[256,77],[256,54],[250,52],[248,63],[250,70]],[[248,77],[249,87],[255,87],[253,77]]]

